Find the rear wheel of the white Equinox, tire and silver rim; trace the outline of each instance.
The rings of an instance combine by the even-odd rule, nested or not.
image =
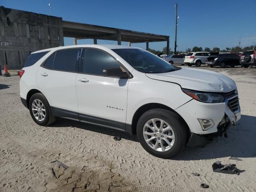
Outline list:
[[[34,103],[33,103],[34,102]],[[40,108],[38,108],[38,103]],[[36,108],[37,106],[37,108]],[[46,99],[46,97],[42,93],[36,93],[31,96],[29,100],[29,110],[30,110],[30,115],[34,122],[40,126],[47,126],[52,124],[56,119],[54,115],[52,114],[52,109]],[[36,117],[35,114],[38,114],[38,110],[40,110],[41,115],[38,115]],[[34,113],[33,113],[34,111]],[[37,112],[37,113],[36,113]],[[44,117],[43,117],[44,115]]]

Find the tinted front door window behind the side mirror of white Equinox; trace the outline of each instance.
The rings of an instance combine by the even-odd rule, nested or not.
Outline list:
[[[84,49],[83,73],[103,76],[103,70],[113,68],[120,68],[120,63],[108,53],[97,49]]]

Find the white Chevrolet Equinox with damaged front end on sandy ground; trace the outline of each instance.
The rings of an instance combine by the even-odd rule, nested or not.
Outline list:
[[[154,156],[170,158],[240,119],[236,84],[208,70],[170,65],[117,45],[40,50],[20,71],[20,97],[33,120],[56,117],[137,134]]]

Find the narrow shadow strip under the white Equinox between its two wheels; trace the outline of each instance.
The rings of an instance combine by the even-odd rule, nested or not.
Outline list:
[[[77,122],[77,121],[68,120],[68,119],[64,119],[64,118],[57,118],[56,122],[54,124],[50,125],[50,127],[67,127],[67,126],[70,126],[73,128],[89,130],[89,131],[93,131],[93,132],[97,132],[97,133],[101,133],[101,134],[106,134],[106,135],[110,135],[113,137],[118,136],[120,138],[139,142],[136,134],[130,135],[130,134],[120,131],[120,130],[114,130],[114,129],[103,127],[103,126],[97,126],[97,125],[88,124],[88,123],[84,123],[84,122]]]

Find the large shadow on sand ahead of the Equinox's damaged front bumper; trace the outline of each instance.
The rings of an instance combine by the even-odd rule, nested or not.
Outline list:
[[[228,138],[218,137],[204,148],[186,147],[173,160],[203,160],[235,156],[238,158],[256,157],[256,117],[242,115],[236,126],[230,127]]]

